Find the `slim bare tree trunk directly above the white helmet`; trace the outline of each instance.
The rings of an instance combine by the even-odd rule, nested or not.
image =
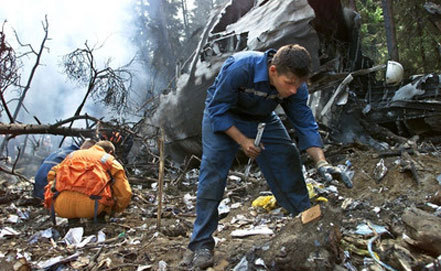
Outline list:
[[[389,59],[399,61],[392,0],[382,0],[381,3],[383,6],[384,28],[386,29]]]

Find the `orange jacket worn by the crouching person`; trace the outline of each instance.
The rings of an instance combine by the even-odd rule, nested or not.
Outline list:
[[[114,182],[108,184],[111,176]],[[112,207],[117,212],[128,206],[132,196],[122,165],[97,145],[72,152],[49,171],[48,185],[45,187],[46,208],[53,203],[53,187],[59,193],[71,191],[101,196],[100,205]]]

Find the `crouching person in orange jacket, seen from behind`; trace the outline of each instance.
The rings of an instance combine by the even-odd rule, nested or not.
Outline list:
[[[44,205],[64,218],[96,218],[122,212],[132,190],[122,165],[112,156],[115,146],[102,140],[86,150],[70,153],[49,171]]]

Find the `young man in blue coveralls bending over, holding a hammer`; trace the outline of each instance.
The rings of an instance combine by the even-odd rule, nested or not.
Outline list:
[[[296,44],[277,52],[248,51],[230,56],[208,89],[202,121],[203,155],[193,234],[181,266],[213,265],[213,232],[218,226],[228,171],[241,148],[255,158],[279,205],[292,215],[310,207],[299,150],[274,112],[281,105],[299,139],[299,149],[321,173],[335,173],[326,162],[318,126],[307,106],[308,51]],[[254,145],[259,122],[265,122],[261,145]],[[339,172],[340,174],[341,171]]]

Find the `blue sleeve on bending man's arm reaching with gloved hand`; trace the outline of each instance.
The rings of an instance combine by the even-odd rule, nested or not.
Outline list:
[[[299,149],[302,151],[310,147],[323,147],[317,122],[307,101],[308,88],[306,84],[303,84],[295,95],[288,97],[281,103],[296,130],[299,137]]]

